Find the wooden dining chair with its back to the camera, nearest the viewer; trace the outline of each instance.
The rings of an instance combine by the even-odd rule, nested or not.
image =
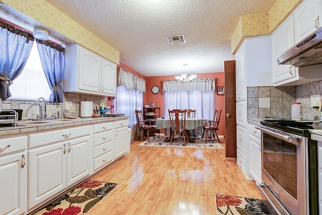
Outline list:
[[[189,137],[187,135],[186,131],[186,110],[168,110],[169,116],[170,116],[170,145],[172,144],[172,141],[174,140],[174,136],[177,133],[183,134],[183,141],[185,143],[185,146],[187,146],[187,141],[189,141]],[[180,116],[179,116],[180,115]]]

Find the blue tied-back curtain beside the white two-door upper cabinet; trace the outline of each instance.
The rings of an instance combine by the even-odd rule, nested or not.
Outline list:
[[[44,40],[36,40],[40,61],[51,89],[50,101],[63,102],[61,87],[64,69],[64,48]]]

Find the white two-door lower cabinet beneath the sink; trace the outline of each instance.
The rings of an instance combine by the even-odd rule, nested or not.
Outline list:
[[[82,126],[29,136],[29,144],[39,146],[28,151],[29,209],[90,175],[90,131],[90,126]],[[35,139],[43,141],[32,142]],[[50,139],[59,141],[48,143]]]

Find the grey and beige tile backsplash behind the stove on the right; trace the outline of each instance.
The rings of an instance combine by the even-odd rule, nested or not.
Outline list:
[[[264,116],[291,118],[291,105],[300,102],[303,119],[319,120],[317,108],[322,98],[322,81],[297,87],[249,87],[248,118]]]

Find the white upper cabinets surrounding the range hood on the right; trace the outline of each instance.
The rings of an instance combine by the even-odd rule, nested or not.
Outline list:
[[[273,32],[272,74],[274,87],[290,85],[289,83],[296,85],[294,81],[310,77],[309,74],[305,74],[306,77],[301,76],[301,69],[299,70],[298,67],[278,64],[276,57],[319,28],[321,13],[321,0],[304,0]]]

